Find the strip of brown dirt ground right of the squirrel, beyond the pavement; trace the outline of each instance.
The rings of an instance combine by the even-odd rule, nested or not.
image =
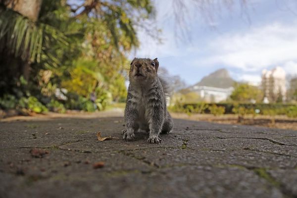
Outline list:
[[[269,127],[277,129],[291,129],[297,130],[297,119],[288,118],[287,116],[275,116],[274,122],[273,117],[258,115],[255,118],[251,116],[246,116],[242,122],[238,122],[238,116],[233,114],[214,116],[211,114],[192,114],[188,115],[186,113],[171,113],[174,118],[195,120],[195,121],[207,121],[215,122],[221,124],[234,124],[234,125],[251,125],[251,126],[260,126],[260,127]]]

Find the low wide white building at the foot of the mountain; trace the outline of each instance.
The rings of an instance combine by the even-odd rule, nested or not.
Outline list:
[[[193,86],[192,91],[198,93],[198,95],[206,102],[220,102],[228,99],[232,94],[234,88],[216,88],[207,86]]]

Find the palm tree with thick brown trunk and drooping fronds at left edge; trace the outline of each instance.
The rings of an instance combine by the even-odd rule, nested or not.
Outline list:
[[[46,52],[50,39],[67,45],[60,31],[38,21],[41,2],[0,1],[1,94],[11,92],[21,76],[29,80],[31,63],[50,58],[51,54]]]

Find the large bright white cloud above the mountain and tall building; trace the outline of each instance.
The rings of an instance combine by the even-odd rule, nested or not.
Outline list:
[[[268,66],[297,61],[297,26],[273,23],[247,33],[225,34],[213,40],[202,59],[206,65],[226,66],[257,71]]]

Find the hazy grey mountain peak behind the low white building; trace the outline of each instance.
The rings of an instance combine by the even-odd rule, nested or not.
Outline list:
[[[236,83],[236,81],[230,77],[230,74],[226,69],[219,69],[208,76],[203,77],[202,80],[195,85],[229,88],[233,87],[234,83]]]

